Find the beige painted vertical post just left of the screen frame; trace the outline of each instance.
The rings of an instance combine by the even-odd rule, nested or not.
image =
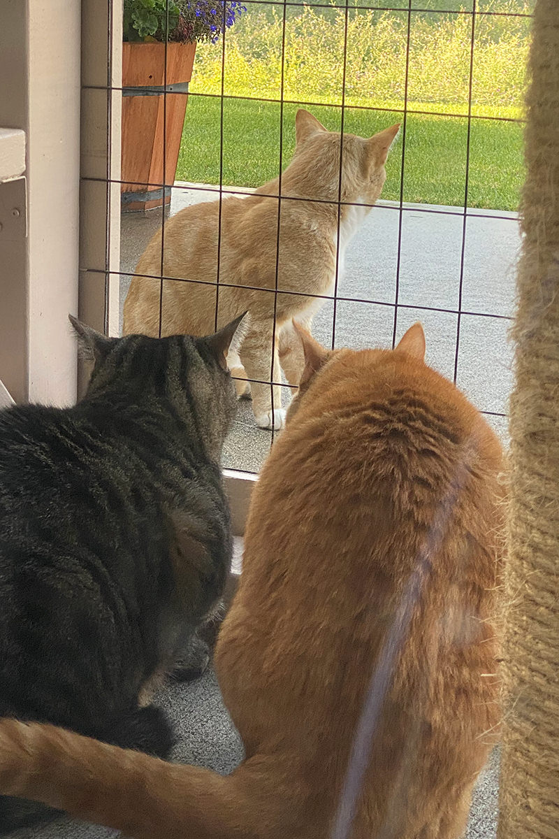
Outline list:
[[[80,0],[28,7],[28,398],[75,401]]]

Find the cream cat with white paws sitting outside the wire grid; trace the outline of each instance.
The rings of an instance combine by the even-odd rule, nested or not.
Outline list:
[[[280,364],[292,385],[303,373],[292,317],[310,326],[322,302],[313,295],[333,293],[336,261],[339,273],[349,240],[380,195],[398,128],[393,125],[369,139],[344,133],[341,201],[349,206],[342,205],[340,212],[340,134],[300,109],[295,154],[282,174],[280,201],[266,197],[278,195],[276,178],[246,198],[225,198],[221,223],[220,201],[186,207],[165,223],[163,276],[179,281],[163,281],[162,335],[215,331],[216,302],[218,325],[249,310],[246,336],[230,350],[228,364],[234,376],[251,380],[252,409],[261,428],[284,424],[281,388],[267,382],[271,374],[275,383],[282,381]],[[144,276],[134,277],[128,290],[124,334],[158,335],[161,267],[158,231],[137,263],[136,273]],[[276,282],[284,293],[274,293]],[[248,392],[245,381],[237,385],[240,395]]]

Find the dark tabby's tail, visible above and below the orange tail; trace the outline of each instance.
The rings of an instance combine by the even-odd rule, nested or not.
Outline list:
[[[173,728],[167,717],[160,708],[153,705],[132,711],[111,727],[98,732],[98,737],[105,743],[136,749],[158,758],[167,757],[173,748],[174,739]],[[47,823],[60,815],[60,810],[45,807],[36,801],[0,795],[0,836],[21,827]]]

